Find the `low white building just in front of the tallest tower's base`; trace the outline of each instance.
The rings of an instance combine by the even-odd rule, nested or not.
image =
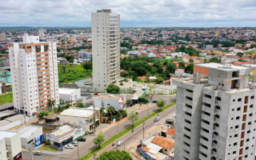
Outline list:
[[[97,108],[107,108],[108,106],[113,106],[114,110],[121,110],[126,103],[126,95],[101,95],[95,98],[94,105]]]

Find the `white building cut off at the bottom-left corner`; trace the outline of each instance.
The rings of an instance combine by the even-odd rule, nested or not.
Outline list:
[[[0,159],[22,160],[22,145],[20,134],[0,130]]]

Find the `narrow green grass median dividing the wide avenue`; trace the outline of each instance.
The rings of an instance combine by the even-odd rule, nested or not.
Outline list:
[[[142,118],[142,119],[145,119],[147,121],[150,118],[153,118],[155,115],[160,114],[162,111],[167,110],[170,107],[174,106],[175,104],[176,104],[176,102],[173,102],[170,105],[162,107],[162,110],[155,111],[154,113],[152,113],[152,114],[150,114],[150,115],[148,115],[148,116],[146,116],[145,118]],[[104,149],[106,146],[109,146],[112,142],[116,141],[118,138],[121,138],[124,134],[127,134],[133,128],[141,125],[142,122],[143,122],[142,119],[138,120],[138,122],[135,122],[134,123],[134,127],[133,126],[129,126],[125,130],[122,130],[119,134],[116,134],[112,138],[107,140],[106,142],[103,142],[103,144],[100,146],[100,148],[95,148],[94,150],[91,150],[88,154],[86,154],[85,156],[80,158],[80,160],[86,160],[86,159],[89,159],[89,158],[93,157],[94,154],[97,154],[100,150]]]

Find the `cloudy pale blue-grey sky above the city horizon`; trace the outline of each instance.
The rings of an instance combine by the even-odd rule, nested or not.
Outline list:
[[[90,26],[106,8],[121,26],[256,26],[256,0],[0,0],[0,26]]]

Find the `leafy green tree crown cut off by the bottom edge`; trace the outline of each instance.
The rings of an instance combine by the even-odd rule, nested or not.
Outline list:
[[[96,160],[132,160],[126,150],[110,150],[101,154]]]

